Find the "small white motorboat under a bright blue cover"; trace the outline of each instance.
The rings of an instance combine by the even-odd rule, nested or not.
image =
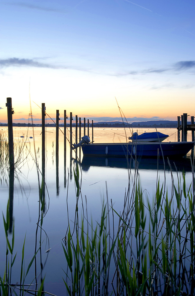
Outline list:
[[[166,138],[168,138],[168,135],[160,132],[142,133],[141,135],[133,133],[132,137],[129,137],[129,140],[137,142],[162,142]]]

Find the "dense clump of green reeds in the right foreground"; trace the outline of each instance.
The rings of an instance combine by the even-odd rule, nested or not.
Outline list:
[[[135,175],[131,204],[124,200],[122,214],[107,199],[95,226],[85,217],[77,219],[76,231],[69,225],[63,243],[69,295],[194,295],[194,186],[187,189],[184,173],[177,176],[176,185],[171,171],[171,191],[158,179],[151,201]],[[74,177],[79,197],[78,167]]]

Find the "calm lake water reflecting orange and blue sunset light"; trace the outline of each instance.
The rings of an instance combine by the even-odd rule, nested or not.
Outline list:
[[[63,128],[61,128],[63,131]],[[143,132],[155,131],[155,129],[135,129],[138,134]],[[177,141],[177,129],[158,129],[158,131],[168,134],[165,141]],[[7,133],[7,129],[4,129]],[[89,130],[91,138],[91,128]],[[125,142],[126,136],[131,136],[129,129],[122,128],[94,128],[94,142]],[[87,133],[87,129],[86,129]],[[25,242],[25,268],[27,268],[35,251],[35,234],[39,214],[39,189],[38,174],[41,181],[42,155],[41,155],[41,128],[13,128],[14,140],[27,141],[27,149],[23,150],[22,161],[15,171],[14,178],[14,197],[13,197],[13,219],[15,227],[15,247],[14,254],[17,257],[14,263],[12,275],[13,283],[19,281],[18,270],[20,270],[22,245],[26,234]],[[83,130],[82,130],[83,135]],[[24,136],[24,138],[21,138]],[[26,139],[26,136],[28,138]],[[32,137],[32,139],[30,139]],[[75,129],[73,128],[73,139]],[[70,133],[67,131],[67,138],[70,139]],[[191,134],[188,133],[188,141],[191,141]],[[34,151],[35,145],[35,151]],[[46,163],[45,163],[45,181],[46,181],[46,208],[43,219],[41,258],[38,253],[39,262],[37,262],[38,279],[41,276],[41,264],[43,266],[42,275],[45,276],[44,290],[54,295],[66,295],[65,284],[62,276],[65,277],[62,269],[66,269],[65,256],[62,249],[62,239],[65,237],[68,227],[68,215],[70,225],[73,225],[76,205],[76,189],[73,175],[73,168],[76,164],[76,153],[70,152],[70,145],[67,141],[66,158],[64,160],[64,136],[59,131],[59,158],[56,160],[55,152],[55,128],[46,130]],[[37,173],[35,163],[40,169]],[[186,186],[189,187],[192,182],[190,155],[181,160],[174,160],[178,172],[184,171]],[[129,176],[130,186],[134,182],[135,164],[132,163],[131,169],[127,167],[125,159],[117,158],[83,158],[82,151],[77,157],[81,178],[81,193],[83,198],[84,212],[86,212],[86,201],[88,216],[92,216],[93,221],[100,221],[101,208],[103,200],[106,200],[106,183],[108,200],[112,199],[114,208],[119,212],[123,209],[124,195],[128,187]],[[145,192],[145,198],[153,199],[156,189],[157,179],[160,178],[160,184],[171,191],[172,179],[177,184],[178,173],[173,161],[171,161],[172,170],[168,163],[165,163],[165,171],[162,160],[159,161],[157,171],[157,160],[141,159],[139,160],[139,178],[142,190]],[[1,172],[1,210],[6,215],[7,200],[9,197],[9,173],[7,170]],[[67,215],[68,205],[68,215]],[[79,210],[82,212],[82,200],[79,202]],[[4,235],[3,218],[0,215],[0,274],[4,274],[6,259],[6,240]],[[38,238],[39,244],[39,238]],[[48,249],[50,252],[46,253]],[[29,283],[35,274],[34,264],[30,270]],[[35,284],[33,280],[32,284]]]

